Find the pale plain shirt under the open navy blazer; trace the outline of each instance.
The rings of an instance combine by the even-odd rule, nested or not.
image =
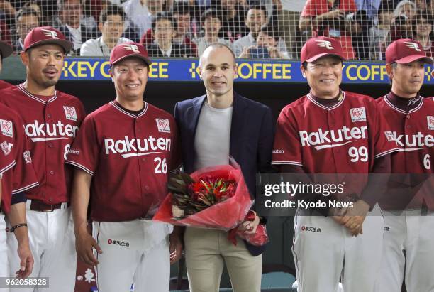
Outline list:
[[[194,170],[229,163],[233,107],[215,109],[205,100],[194,139]]]

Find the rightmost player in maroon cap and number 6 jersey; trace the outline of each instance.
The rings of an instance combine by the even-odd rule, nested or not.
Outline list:
[[[378,292],[400,291],[404,279],[410,292],[434,287],[434,102],[419,94],[425,63],[433,60],[415,40],[396,40],[386,49],[391,92],[377,102],[399,147],[391,155],[391,172],[401,175],[389,180],[379,201],[385,232]],[[409,174],[406,180],[400,179],[403,173]],[[421,180],[424,174],[428,180]]]

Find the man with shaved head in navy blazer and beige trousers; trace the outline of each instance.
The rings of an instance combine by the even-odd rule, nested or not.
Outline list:
[[[199,72],[206,95],[178,102],[174,117],[179,126],[184,171],[228,164],[232,156],[240,165],[252,198],[256,174],[271,171],[274,122],[269,107],[233,92],[237,74],[235,56],[226,45],[209,46],[201,56]],[[255,232],[260,222],[243,222]],[[184,234],[191,292],[218,291],[223,261],[235,292],[260,291],[262,252],[238,239],[235,247],[227,232],[187,227]]]

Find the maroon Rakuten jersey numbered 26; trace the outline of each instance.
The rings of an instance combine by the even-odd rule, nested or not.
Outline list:
[[[67,163],[91,174],[91,219],[126,221],[155,214],[177,171],[177,125],[171,114],[145,103],[135,116],[117,102],[84,119]]]

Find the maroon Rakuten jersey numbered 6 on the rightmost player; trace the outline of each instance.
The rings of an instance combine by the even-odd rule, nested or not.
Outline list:
[[[391,155],[392,173],[434,173],[434,101],[419,97],[418,107],[406,112],[396,107],[386,96],[377,99],[379,111],[388,121],[391,121],[390,131],[385,134],[389,140],[396,141],[399,151]],[[433,175],[431,175],[432,183]],[[399,188],[400,176],[392,176],[389,190],[380,200],[380,205],[387,210],[401,210],[405,207],[420,206],[421,200],[413,200],[415,193],[408,190],[396,193]],[[424,199],[431,210],[434,210],[433,190],[423,188],[418,193],[418,199]],[[410,205],[409,205],[410,204]]]

